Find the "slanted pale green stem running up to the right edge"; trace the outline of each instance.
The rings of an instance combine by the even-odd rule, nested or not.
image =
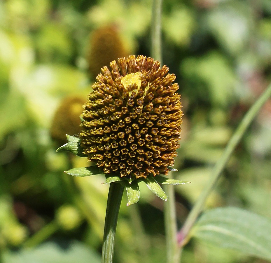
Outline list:
[[[182,229],[178,233],[178,243],[179,246],[184,246],[189,240],[189,232],[195,223],[197,217],[199,216],[200,212],[203,210],[205,201],[209,196],[211,190],[214,188],[219,175],[221,174],[222,170],[224,169],[225,165],[227,164],[230,155],[233,153],[235,147],[239,143],[240,139],[244,135],[246,129],[248,128],[249,124],[251,124],[252,120],[257,115],[260,108],[264,105],[264,103],[268,100],[271,96],[271,84],[267,87],[267,89],[263,92],[263,94],[257,99],[257,101],[252,105],[249,111],[244,116],[243,120],[237,127],[235,133],[232,135],[228,145],[226,146],[223,155],[216,163],[213,173],[209,182],[207,183],[206,187],[200,194],[197,202],[195,203],[194,207],[190,211],[185,223],[183,224]]]

